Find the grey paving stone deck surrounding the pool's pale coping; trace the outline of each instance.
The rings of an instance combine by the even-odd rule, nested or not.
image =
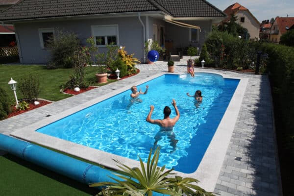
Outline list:
[[[175,73],[183,73],[187,70],[185,60],[184,58],[180,62],[175,62]],[[140,69],[140,73],[135,76],[0,121],[0,133],[9,135],[48,118],[47,115],[54,116],[127,85],[139,84],[147,77],[167,72],[168,69],[167,62],[162,61],[140,64],[137,68]],[[195,72],[202,70],[195,68]],[[214,192],[221,196],[281,196],[268,76],[212,69],[205,71],[249,79]]]

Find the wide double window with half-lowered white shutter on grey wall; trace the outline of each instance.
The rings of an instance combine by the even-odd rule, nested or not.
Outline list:
[[[119,45],[118,25],[93,25],[91,29],[98,47],[105,47],[110,44]]]

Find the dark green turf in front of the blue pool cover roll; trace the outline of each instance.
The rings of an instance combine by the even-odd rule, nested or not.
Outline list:
[[[97,189],[10,154],[0,156],[1,196],[94,196]]]

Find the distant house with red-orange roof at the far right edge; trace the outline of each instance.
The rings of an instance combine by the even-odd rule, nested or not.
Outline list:
[[[281,36],[294,25],[294,17],[276,17],[270,28],[270,42],[279,43]]]

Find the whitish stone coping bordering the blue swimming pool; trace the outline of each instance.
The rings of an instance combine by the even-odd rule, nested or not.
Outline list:
[[[196,73],[214,73],[210,71],[201,71]],[[94,149],[91,147],[85,147],[79,144],[75,144],[73,142],[69,142],[66,140],[62,140],[59,138],[55,138],[43,133],[36,132],[37,129],[48,125],[49,123],[53,123],[55,121],[58,121],[62,118],[65,118],[75,112],[78,112],[82,109],[85,109],[87,107],[90,107],[104,99],[113,97],[119,93],[122,93],[126,90],[129,90],[131,86],[133,85],[140,85],[142,83],[145,83],[151,79],[154,79],[156,77],[159,77],[166,73],[159,73],[153,76],[150,76],[146,79],[140,80],[139,82],[135,82],[131,85],[127,85],[119,90],[110,92],[107,95],[103,95],[101,97],[92,99],[90,101],[87,101],[83,104],[80,104],[78,106],[75,106],[71,109],[68,109],[64,112],[61,112],[57,115],[50,116],[49,118],[42,120],[37,123],[33,123],[29,126],[26,126],[18,131],[12,132],[10,135],[23,139],[25,141],[34,142],[46,147],[50,147],[53,149],[57,149],[59,151],[81,157],[85,160],[92,161],[94,163],[98,163],[100,165],[104,165],[108,168],[112,168],[115,170],[119,170],[116,163],[113,161],[119,160],[123,164],[134,168],[139,167],[140,168],[140,162],[136,160],[132,160],[129,158],[125,158],[122,156],[118,156],[115,154],[111,154],[108,152],[104,152],[98,149]],[[174,73],[179,74],[179,73]],[[184,74],[184,73],[183,73]],[[185,73],[186,74],[186,73]],[[215,185],[217,183],[217,179],[219,176],[219,173],[221,171],[221,166],[225,157],[226,150],[228,148],[235,123],[237,121],[237,117],[241,108],[242,100],[245,94],[246,86],[248,83],[248,78],[238,78],[238,77],[229,77],[222,73],[214,73],[214,74],[220,74],[224,78],[232,78],[232,79],[240,79],[240,82],[237,86],[237,89],[221,119],[221,123],[219,124],[211,142],[208,146],[196,172],[193,173],[182,173],[174,171],[177,175],[180,175],[182,177],[193,177],[199,180],[198,185],[205,189],[206,191],[213,192]],[[120,81],[118,81],[120,82]]]

